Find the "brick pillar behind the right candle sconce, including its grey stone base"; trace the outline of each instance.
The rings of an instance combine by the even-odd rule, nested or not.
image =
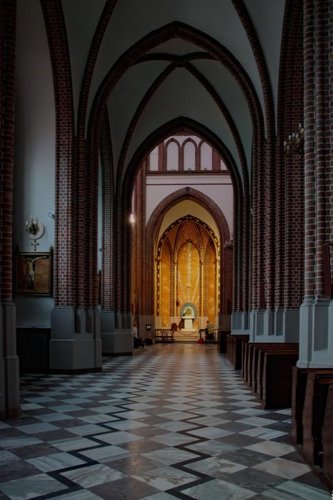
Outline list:
[[[283,179],[280,207],[283,204],[279,232],[280,266],[278,268],[279,304],[276,304],[276,335],[282,341],[299,339],[299,306],[302,303],[304,279],[304,156],[285,154],[283,141],[298,131],[303,117],[303,23],[302,0],[288,4],[285,16],[285,40],[280,74],[280,116],[278,121],[277,173]],[[283,109],[282,109],[283,106]],[[280,182],[281,184],[281,182]],[[279,186],[280,186],[279,184]],[[281,211],[279,212],[281,213]],[[282,258],[283,257],[283,258]]]

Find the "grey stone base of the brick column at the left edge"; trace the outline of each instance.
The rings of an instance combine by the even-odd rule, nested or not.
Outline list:
[[[18,416],[19,357],[16,356],[16,307],[0,304],[0,418]]]

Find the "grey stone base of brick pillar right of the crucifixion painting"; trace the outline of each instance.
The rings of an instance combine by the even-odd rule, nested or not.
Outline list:
[[[50,370],[101,371],[102,344],[98,309],[57,308],[51,313]]]

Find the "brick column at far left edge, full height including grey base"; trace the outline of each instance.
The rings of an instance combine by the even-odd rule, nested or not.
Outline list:
[[[0,2],[0,419],[16,416],[19,358],[12,291],[16,1]]]

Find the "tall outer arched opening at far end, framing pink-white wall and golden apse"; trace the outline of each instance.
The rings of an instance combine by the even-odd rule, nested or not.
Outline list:
[[[185,146],[202,142],[189,131],[176,137]],[[203,171],[199,148],[193,162],[200,169],[165,169],[170,144],[166,138],[145,156],[133,186],[131,320],[140,336],[148,335],[146,325],[170,329],[176,322],[186,333],[183,339],[197,340],[208,319],[215,329],[230,329],[233,252],[225,244],[234,231],[234,189],[229,172],[218,169],[220,155],[207,142],[216,169]],[[156,151],[158,170],[151,161]],[[198,311],[186,328],[185,304]]]

